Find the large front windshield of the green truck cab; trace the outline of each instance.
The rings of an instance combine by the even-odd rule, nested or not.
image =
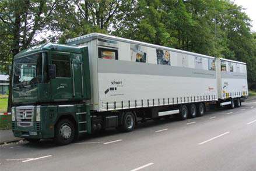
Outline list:
[[[13,88],[45,82],[47,77],[46,55],[46,53],[40,52],[15,59],[13,62]]]

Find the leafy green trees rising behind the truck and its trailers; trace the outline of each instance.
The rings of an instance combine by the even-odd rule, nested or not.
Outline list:
[[[247,62],[256,89],[250,28],[250,18],[230,0],[2,0],[0,70],[8,72],[13,55],[31,45],[99,32]],[[45,31],[48,37],[38,39]]]

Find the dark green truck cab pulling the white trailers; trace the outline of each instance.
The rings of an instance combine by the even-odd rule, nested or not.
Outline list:
[[[14,57],[12,130],[28,141],[69,144],[91,133],[87,47],[43,44]]]

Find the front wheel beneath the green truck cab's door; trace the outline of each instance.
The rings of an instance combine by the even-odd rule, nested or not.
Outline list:
[[[72,143],[75,139],[75,126],[71,120],[61,119],[55,126],[54,141],[58,145]]]

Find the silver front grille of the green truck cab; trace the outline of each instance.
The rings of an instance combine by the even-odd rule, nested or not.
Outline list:
[[[16,108],[17,125],[33,126],[34,106],[19,106]]]

